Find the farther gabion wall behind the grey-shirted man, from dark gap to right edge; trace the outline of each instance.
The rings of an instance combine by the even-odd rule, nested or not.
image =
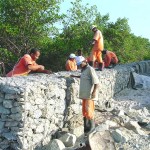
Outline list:
[[[131,86],[129,85],[129,81],[132,79],[131,72],[142,72],[147,74],[150,72],[149,64],[150,61],[142,61],[126,65],[117,65],[113,69],[104,69],[104,71],[96,71],[100,82],[98,100],[95,101],[96,106],[101,109],[106,109],[106,102],[111,103],[111,99],[115,94]],[[57,75],[61,74],[63,77],[66,77],[66,99],[69,103],[67,119],[71,119],[75,115],[82,113],[81,99],[79,99],[80,79],[69,77],[71,74],[80,75],[80,73],[80,70],[57,73]]]

